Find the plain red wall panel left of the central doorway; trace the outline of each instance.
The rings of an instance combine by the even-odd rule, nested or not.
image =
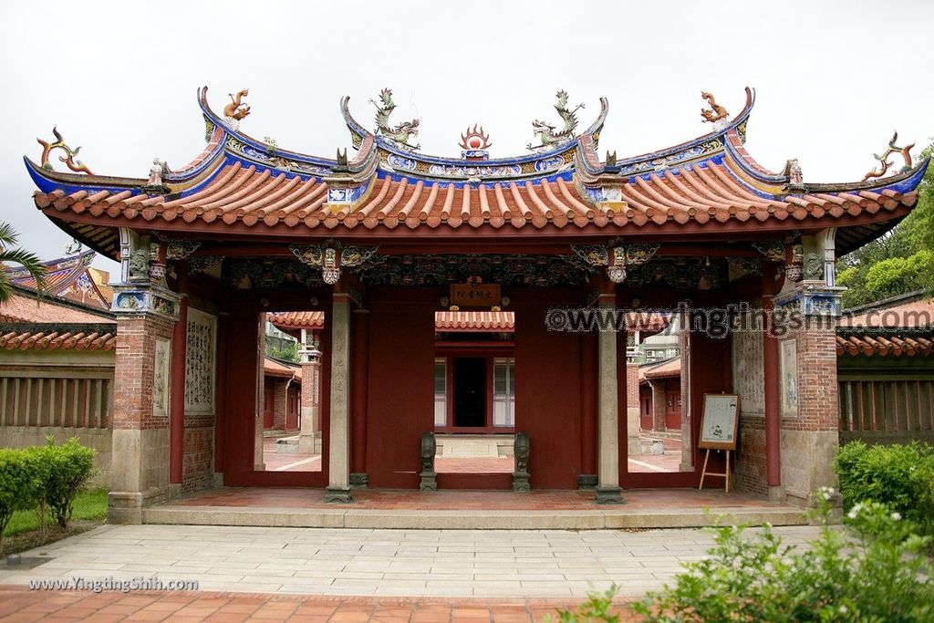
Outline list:
[[[421,433],[434,428],[432,290],[369,292],[366,469],[375,488],[417,488]]]

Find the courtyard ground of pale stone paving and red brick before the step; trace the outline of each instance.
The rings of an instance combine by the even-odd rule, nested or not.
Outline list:
[[[775,531],[786,543],[801,544],[818,529]],[[27,563],[47,560],[33,568],[0,569],[0,617],[540,620],[612,584],[619,586],[621,604],[637,599],[661,588],[711,544],[712,535],[700,530],[103,526],[25,552]],[[37,580],[153,575],[163,581],[197,580],[199,591],[95,595],[28,588]]]

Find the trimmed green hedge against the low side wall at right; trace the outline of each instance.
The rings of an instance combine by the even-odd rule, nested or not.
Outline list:
[[[850,442],[840,448],[834,469],[844,510],[857,503],[884,503],[934,533],[934,447]]]

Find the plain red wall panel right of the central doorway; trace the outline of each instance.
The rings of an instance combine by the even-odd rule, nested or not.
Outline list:
[[[577,488],[581,470],[580,333],[550,332],[545,313],[576,290],[511,290],[516,312],[516,432],[529,434],[532,488]]]

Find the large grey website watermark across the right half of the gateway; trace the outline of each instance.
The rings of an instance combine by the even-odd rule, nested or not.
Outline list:
[[[565,333],[631,332],[668,326],[675,317],[681,319],[679,329],[715,338],[725,338],[730,333],[770,333],[782,337],[826,322],[866,333],[934,325],[934,315],[926,310],[874,310],[858,315],[844,312],[837,318],[808,316],[797,307],[763,308],[747,303],[691,307],[681,303],[673,309],[552,307],[545,312],[545,326],[548,331]]]

